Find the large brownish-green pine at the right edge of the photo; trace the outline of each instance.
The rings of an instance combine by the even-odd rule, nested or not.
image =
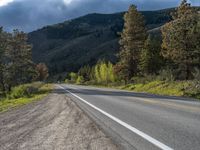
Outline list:
[[[199,14],[183,0],[173,19],[162,28],[162,55],[178,66],[179,79],[191,79],[200,62]]]

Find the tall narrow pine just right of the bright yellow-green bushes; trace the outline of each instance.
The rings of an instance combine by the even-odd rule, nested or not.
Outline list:
[[[119,74],[128,81],[138,73],[140,53],[146,38],[146,29],[143,16],[131,5],[124,16],[124,29],[121,33],[121,51],[119,53]]]

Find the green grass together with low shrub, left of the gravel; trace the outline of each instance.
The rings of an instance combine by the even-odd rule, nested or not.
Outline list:
[[[40,82],[15,87],[11,93],[7,94],[6,98],[0,100],[0,112],[41,100],[52,89],[52,84],[43,84]]]

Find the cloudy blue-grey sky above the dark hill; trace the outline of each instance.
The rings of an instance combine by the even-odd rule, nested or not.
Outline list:
[[[190,0],[200,6],[200,0]],[[130,4],[140,10],[175,7],[180,0],[0,0],[0,26],[29,32],[88,13],[125,11]]]

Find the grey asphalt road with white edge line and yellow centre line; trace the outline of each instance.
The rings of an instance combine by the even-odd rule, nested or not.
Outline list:
[[[200,149],[197,101],[88,86],[60,88],[124,149]]]

